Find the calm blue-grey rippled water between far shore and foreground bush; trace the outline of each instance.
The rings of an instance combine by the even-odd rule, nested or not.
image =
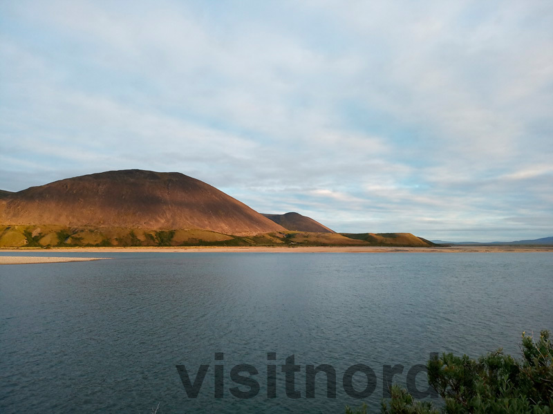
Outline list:
[[[114,259],[0,266],[1,413],[151,413],[158,403],[160,414],[343,413],[362,402],[342,384],[354,364],[374,370],[366,401],[376,407],[383,365],[402,364],[394,379],[405,386],[430,352],[519,355],[523,330],[553,330],[551,253],[74,255]],[[280,366],[290,355],[301,366],[299,399],[285,394]],[[177,364],[191,381],[209,365],[197,398]],[[216,364],[223,399],[214,398]],[[256,397],[229,391],[236,364],[258,370]],[[268,364],[277,365],[274,399]],[[324,374],[306,398],[308,364],[335,368],[335,399]],[[365,388],[362,374],[354,386]]]

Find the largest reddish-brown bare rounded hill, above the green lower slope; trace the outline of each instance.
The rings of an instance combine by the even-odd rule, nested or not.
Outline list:
[[[123,170],[30,187],[0,199],[0,224],[207,229],[225,234],[283,227],[181,173]]]

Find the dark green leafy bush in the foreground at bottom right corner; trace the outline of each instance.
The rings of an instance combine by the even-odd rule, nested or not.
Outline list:
[[[523,332],[523,359],[504,355],[501,349],[478,360],[467,355],[444,354],[427,364],[431,387],[442,397],[443,407],[415,401],[398,386],[382,402],[382,414],[487,414],[553,413],[553,344],[543,330],[536,340]],[[346,414],[366,414],[367,407]]]

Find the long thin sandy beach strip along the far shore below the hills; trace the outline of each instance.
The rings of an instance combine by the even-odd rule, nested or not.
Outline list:
[[[553,252],[553,246],[452,246],[452,247],[384,247],[384,246],[315,246],[315,247],[53,247],[0,249],[0,252],[60,252],[60,253],[124,253],[124,252],[213,252],[213,253],[504,253],[504,252]],[[1,256],[0,256],[1,259]],[[54,258],[75,261],[77,258]],[[93,260],[95,258],[79,258]],[[64,260],[64,261],[68,261]],[[62,261],[62,260],[59,260]]]

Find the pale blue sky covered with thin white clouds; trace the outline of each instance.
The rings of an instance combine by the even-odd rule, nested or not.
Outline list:
[[[118,169],[338,232],[553,236],[553,3],[0,1],[0,189]]]

